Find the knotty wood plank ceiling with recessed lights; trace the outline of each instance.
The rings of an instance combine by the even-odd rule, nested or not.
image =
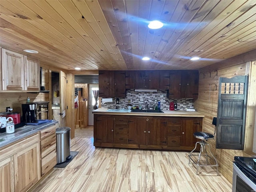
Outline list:
[[[65,70],[198,69],[256,49],[256,0],[1,0],[0,46]]]

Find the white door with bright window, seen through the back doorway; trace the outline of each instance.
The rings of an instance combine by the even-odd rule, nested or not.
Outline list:
[[[92,111],[94,110],[93,106],[95,104],[95,99],[93,95],[93,90],[99,90],[98,84],[89,84],[89,94],[88,94],[88,125],[93,125],[93,114]],[[99,104],[99,100],[97,101]]]

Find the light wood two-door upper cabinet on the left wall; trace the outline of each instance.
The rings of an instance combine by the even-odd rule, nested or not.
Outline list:
[[[1,89],[3,92],[39,91],[39,61],[1,49]]]

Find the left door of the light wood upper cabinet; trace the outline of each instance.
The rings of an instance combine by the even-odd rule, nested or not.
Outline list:
[[[3,48],[2,90],[24,90],[24,55]]]

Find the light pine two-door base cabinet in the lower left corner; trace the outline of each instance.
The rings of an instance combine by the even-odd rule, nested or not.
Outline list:
[[[41,178],[38,134],[0,149],[1,190],[25,192]]]

